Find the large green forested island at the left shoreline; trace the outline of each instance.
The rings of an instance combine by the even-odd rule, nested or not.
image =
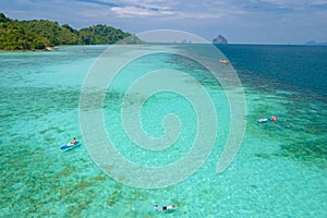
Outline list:
[[[0,13],[0,50],[51,50],[60,45],[140,44],[132,34],[107,25],[76,31],[48,20],[17,21]]]

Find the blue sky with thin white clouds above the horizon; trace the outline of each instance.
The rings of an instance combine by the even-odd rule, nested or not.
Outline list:
[[[1,0],[0,12],[77,29],[177,29],[209,41],[222,35],[231,44],[327,41],[327,0]]]

